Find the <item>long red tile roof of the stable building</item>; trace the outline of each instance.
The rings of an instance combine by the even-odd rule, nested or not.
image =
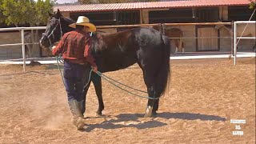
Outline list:
[[[111,10],[141,10],[141,9],[170,9],[202,6],[249,6],[249,0],[172,0],[169,2],[129,2],[108,4],[87,4],[54,6],[66,12],[111,11]]]

